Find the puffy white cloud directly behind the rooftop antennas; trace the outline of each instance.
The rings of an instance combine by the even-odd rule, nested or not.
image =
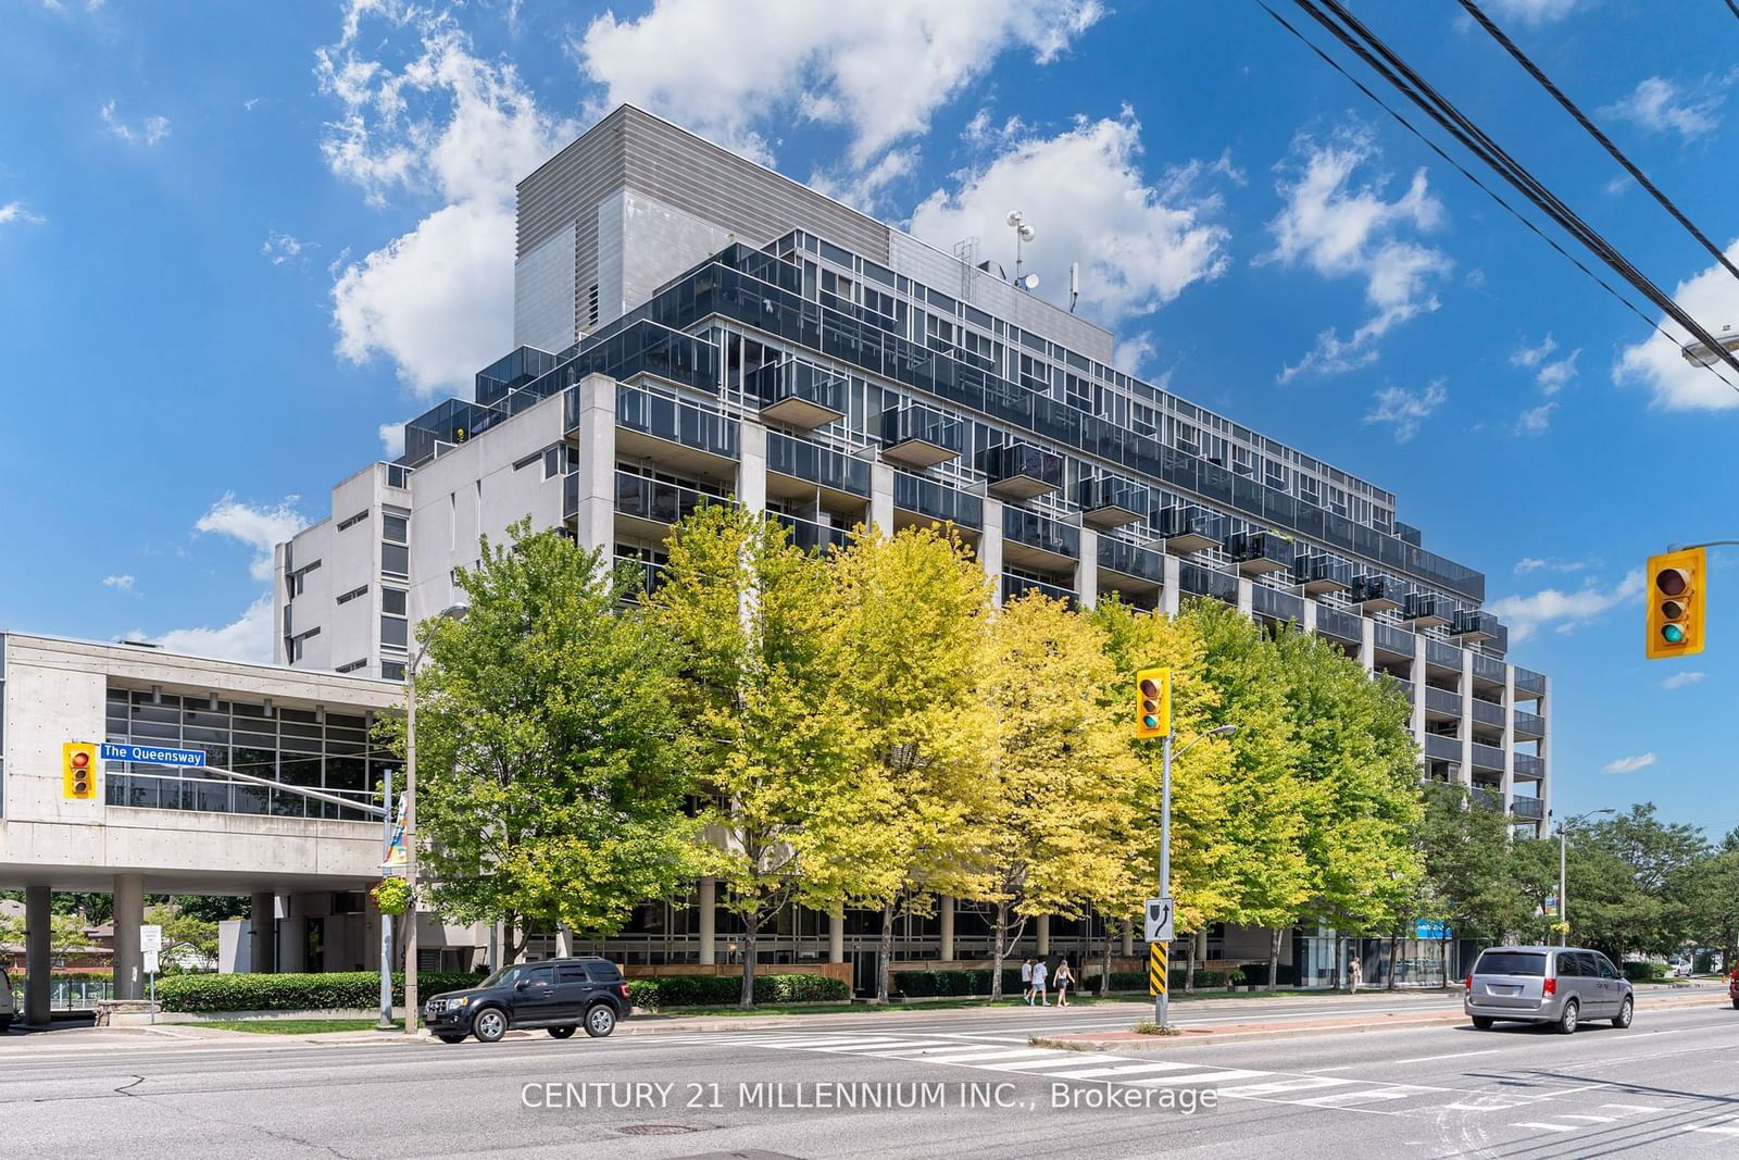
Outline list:
[[[956,174],[951,193],[930,193],[909,226],[944,252],[977,237],[983,256],[1012,273],[1005,217],[1019,209],[1038,231],[1024,250],[1026,268],[1040,277],[1038,292],[1068,304],[1069,263],[1078,261],[1082,313],[1111,325],[1226,270],[1229,235],[1210,221],[1219,198],[1196,190],[1210,167],[1191,162],[1149,183],[1139,155],[1141,123],[1127,108],[1115,120],[1080,120],[1054,137],[1021,136],[988,165]]]

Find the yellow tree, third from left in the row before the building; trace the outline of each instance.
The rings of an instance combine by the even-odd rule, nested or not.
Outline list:
[[[852,901],[882,911],[876,1000],[887,1002],[899,918],[929,913],[934,894],[989,892],[989,581],[953,532],[936,529],[857,536],[828,576],[828,652],[856,784],[835,824],[845,828]]]

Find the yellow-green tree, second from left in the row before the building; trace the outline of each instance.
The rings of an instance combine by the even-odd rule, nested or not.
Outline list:
[[[783,523],[711,504],[676,525],[656,595],[715,798],[701,861],[743,918],[744,1007],[762,925],[793,903],[838,913],[845,896],[831,814],[849,807],[852,748],[826,650],[826,567]]]

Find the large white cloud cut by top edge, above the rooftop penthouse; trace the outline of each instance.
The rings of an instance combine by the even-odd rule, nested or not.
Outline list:
[[[838,125],[866,170],[1003,52],[1047,64],[1101,16],[1097,0],[656,0],[593,19],[572,50],[603,85],[595,113],[633,103],[765,163],[769,125]]]

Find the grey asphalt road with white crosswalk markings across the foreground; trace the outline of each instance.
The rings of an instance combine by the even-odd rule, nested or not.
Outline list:
[[[1245,1000],[1188,1014],[1355,1005],[1370,1009]],[[1405,1009],[1424,1005],[1447,1003]],[[816,1019],[454,1047],[12,1038],[0,1050],[0,1155],[1739,1155],[1739,1012],[1725,998],[1659,1010],[1645,1000],[1631,1030],[1574,1037],[1457,1024],[1139,1056],[1026,1045],[1033,1033],[1123,1028],[1129,1014],[913,1012],[868,1028]],[[781,1106],[842,1099],[896,1106]]]

